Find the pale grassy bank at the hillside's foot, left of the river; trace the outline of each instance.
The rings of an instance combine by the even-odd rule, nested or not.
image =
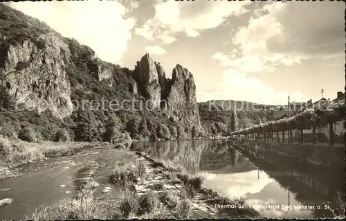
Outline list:
[[[46,141],[28,143],[8,139],[0,135],[0,166],[15,167],[46,157],[73,155],[91,148],[93,148],[93,145],[86,142],[53,143]]]

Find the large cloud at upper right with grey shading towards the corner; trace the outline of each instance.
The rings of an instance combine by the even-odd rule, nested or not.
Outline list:
[[[233,51],[217,52],[212,58],[242,72],[257,72],[344,53],[341,15],[345,6],[340,6],[330,2],[266,3],[255,10],[247,26],[237,30],[232,39]],[[316,25],[316,20],[322,23]]]

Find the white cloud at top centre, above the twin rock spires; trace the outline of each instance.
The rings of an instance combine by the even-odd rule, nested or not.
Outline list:
[[[228,2],[200,1],[199,4],[187,1],[156,1],[155,15],[148,19],[137,35],[152,40],[152,35],[142,35],[153,33],[154,38],[161,39],[165,32],[166,36],[172,37],[175,33],[185,33],[188,37],[199,37],[201,30],[216,28],[222,24],[226,17],[230,15],[241,15],[247,12],[244,6],[251,1],[236,1],[232,4]],[[145,30],[145,31],[144,31]],[[167,41],[172,43],[172,41]],[[170,44],[165,43],[163,44]]]

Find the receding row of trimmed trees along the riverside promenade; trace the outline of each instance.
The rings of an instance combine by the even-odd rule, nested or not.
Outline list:
[[[334,104],[333,102],[326,101],[325,103],[320,103],[313,109],[304,109],[302,112],[298,112],[291,117],[237,130],[231,132],[230,135],[233,137],[255,139],[258,141],[308,144],[309,142],[307,143],[304,141],[303,130],[312,129],[313,139],[311,139],[311,144],[316,145],[316,128],[328,125],[329,145],[334,146],[335,144],[338,145],[338,143],[335,142],[333,125],[335,122],[343,121],[343,118],[345,119],[344,114],[345,103]],[[293,130],[298,132],[295,137],[293,137]],[[345,138],[344,141],[341,141],[339,144],[341,143],[345,143]]]

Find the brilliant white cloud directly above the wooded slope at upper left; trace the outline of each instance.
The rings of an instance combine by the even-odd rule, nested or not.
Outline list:
[[[128,8],[118,1],[26,1],[10,6],[46,22],[63,36],[90,46],[100,59],[113,63],[127,51],[131,29],[136,24],[136,19],[128,17]]]

